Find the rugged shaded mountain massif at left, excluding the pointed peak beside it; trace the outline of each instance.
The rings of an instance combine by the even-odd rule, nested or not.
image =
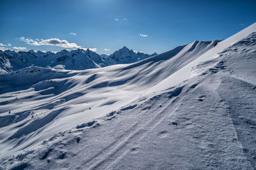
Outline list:
[[[28,52],[14,52],[6,50],[0,52],[1,59],[4,60],[8,65],[9,69],[6,69],[2,73],[6,73],[11,69],[17,71],[28,66],[39,66],[39,67],[62,67],[65,69],[90,69],[101,66],[107,66],[108,64],[95,52],[90,50],[61,50],[58,53],[52,52],[34,52],[29,50]],[[4,70],[4,67],[1,67]]]

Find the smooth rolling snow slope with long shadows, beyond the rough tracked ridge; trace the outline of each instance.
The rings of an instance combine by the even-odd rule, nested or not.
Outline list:
[[[130,65],[85,71],[27,67],[2,75],[0,153],[12,155],[131,103],[215,43],[195,41]]]

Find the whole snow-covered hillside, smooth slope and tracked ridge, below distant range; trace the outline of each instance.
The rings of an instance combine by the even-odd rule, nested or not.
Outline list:
[[[2,74],[0,166],[255,169],[255,42],[253,24],[132,64]]]

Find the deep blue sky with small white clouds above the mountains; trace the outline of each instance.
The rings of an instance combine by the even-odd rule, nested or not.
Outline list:
[[[161,53],[228,38],[256,22],[255,9],[255,0],[1,0],[0,49]]]

